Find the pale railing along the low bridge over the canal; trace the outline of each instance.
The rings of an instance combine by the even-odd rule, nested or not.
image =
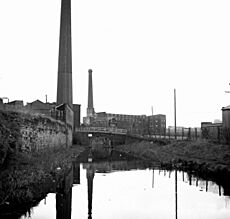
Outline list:
[[[76,127],[75,132],[100,132],[100,133],[112,133],[126,135],[126,129],[119,129],[114,127]]]

